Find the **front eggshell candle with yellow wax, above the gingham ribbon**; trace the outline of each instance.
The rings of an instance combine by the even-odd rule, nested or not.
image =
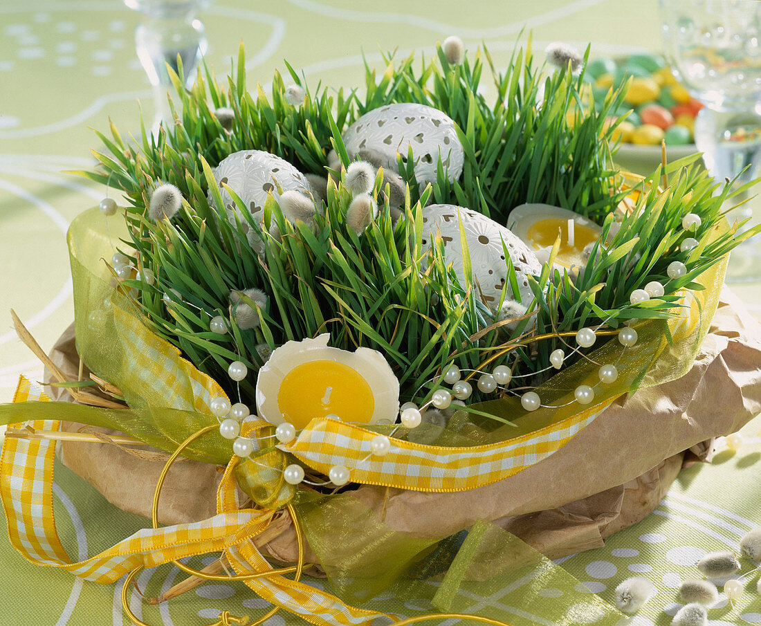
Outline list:
[[[256,380],[260,417],[297,430],[328,415],[352,424],[395,421],[399,380],[383,355],[370,348],[330,348],[328,338],[325,333],[288,342],[272,352]]]

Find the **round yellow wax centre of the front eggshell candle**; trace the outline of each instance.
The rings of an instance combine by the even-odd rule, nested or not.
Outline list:
[[[285,421],[301,430],[314,418],[330,414],[342,421],[368,424],[375,399],[357,370],[317,359],[297,365],[285,375],[278,389],[278,406]]]

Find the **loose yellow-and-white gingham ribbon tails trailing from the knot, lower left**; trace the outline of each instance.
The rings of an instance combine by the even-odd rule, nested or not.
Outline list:
[[[37,385],[21,377],[14,402],[48,400]],[[53,420],[34,421],[32,426],[35,430],[59,430],[59,422]],[[8,537],[29,561],[59,567],[95,583],[115,583],[135,567],[155,567],[213,551],[224,551],[237,574],[272,570],[252,539],[266,529],[275,512],[239,508],[234,478],[237,457],[228,464],[219,486],[217,515],[202,522],[142,529],[99,555],[72,561],[61,544],[53,516],[55,454],[55,441],[8,437],[0,456],[0,496]],[[317,626],[365,624],[384,615],[345,605],[330,593],[282,576],[246,583],[261,598]]]

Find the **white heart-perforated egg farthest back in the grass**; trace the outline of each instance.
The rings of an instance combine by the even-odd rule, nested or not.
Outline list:
[[[342,138],[349,157],[367,158],[393,172],[398,170],[396,153],[406,160],[412,146],[415,177],[421,184],[435,182],[439,154],[449,180],[457,180],[463,172],[463,146],[457,138],[454,120],[425,104],[380,106],[349,126]]]

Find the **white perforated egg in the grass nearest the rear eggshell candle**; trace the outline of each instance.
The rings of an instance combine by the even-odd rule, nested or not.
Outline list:
[[[486,215],[455,205],[429,205],[422,209],[422,218],[423,246],[430,248],[436,235],[441,233],[447,263],[453,264],[457,278],[464,284],[463,249],[460,244],[462,221],[473,278],[478,281],[483,300],[490,309],[496,309],[508,278],[508,264],[502,242],[505,242],[515,268],[521,302],[528,305],[533,300],[527,276],[540,275],[542,264],[529,247],[510,230]],[[515,297],[509,284],[505,297]]]

